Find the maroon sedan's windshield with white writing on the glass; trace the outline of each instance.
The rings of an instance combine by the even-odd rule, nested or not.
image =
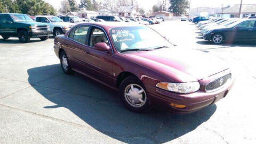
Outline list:
[[[110,30],[118,52],[132,49],[153,50],[172,45],[156,31],[148,27],[119,27]]]

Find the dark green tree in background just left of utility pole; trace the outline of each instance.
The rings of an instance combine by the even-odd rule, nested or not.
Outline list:
[[[171,6],[169,7],[169,11],[174,13],[176,16],[180,14],[185,14],[186,9],[189,8],[188,0],[170,0]]]

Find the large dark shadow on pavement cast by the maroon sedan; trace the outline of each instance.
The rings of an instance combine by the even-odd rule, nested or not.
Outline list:
[[[63,74],[59,64],[35,67],[27,72],[31,86],[55,104],[42,107],[46,113],[65,107],[84,124],[125,143],[163,143],[177,139],[209,120],[217,108],[211,105],[188,115],[157,110],[138,114],[121,104],[117,91],[78,73]],[[54,116],[58,118],[58,114]]]

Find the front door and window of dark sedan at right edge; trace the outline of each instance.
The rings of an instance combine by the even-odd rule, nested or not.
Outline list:
[[[241,24],[238,24],[236,26],[235,31],[235,40],[236,41],[252,41],[255,37],[254,31],[255,31],[255,21],[249,20],[244,21]]]

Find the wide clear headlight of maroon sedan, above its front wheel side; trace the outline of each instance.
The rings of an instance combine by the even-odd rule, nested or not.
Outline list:
[[[178,92],[181,94],[191,93],[199,90],[200,84],[199,82],[186,82],[186,83],[168,83],[168,82],[161,82],[157,83],[156,87],[172,91]]]

